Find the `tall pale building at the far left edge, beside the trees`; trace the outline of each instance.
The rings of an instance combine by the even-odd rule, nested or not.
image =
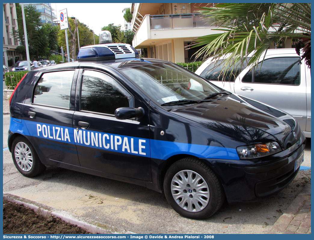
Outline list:
[[[20,59],[16,52],[20,41],[13,36],[13,31],[18,29],[15,3],[3,3],[3,64],[8,68]]]

